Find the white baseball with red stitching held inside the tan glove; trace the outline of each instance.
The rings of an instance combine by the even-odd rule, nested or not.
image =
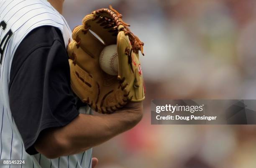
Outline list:
[[[118,75],[118,53],[115,44],[106,46],[100,53],[100,68],[110,75]]]

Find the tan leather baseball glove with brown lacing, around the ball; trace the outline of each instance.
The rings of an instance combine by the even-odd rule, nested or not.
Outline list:
[[[139,61],[144,43],[128,26],[122,15],[110,6],[86,15],[82,25],[72,32],[73,40],[67,46],[71,87],[96,112],[112,113],[128,101],[145,99]],[[99,63],[103,48],[112,44],[117,45],[118,76],[106,74]]]

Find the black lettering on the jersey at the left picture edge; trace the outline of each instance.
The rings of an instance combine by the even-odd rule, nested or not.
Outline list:
[[[5,21],[1,21],[0,23],[0,28],[3,29],[3,31],[5,31],[5,28],[7,27],[7,24],[5,23]],[[13,35],[13,32],[11,30],[9,30],[5,36],[3,37],[3,39],[0,39],[0,64],[2,65],[2,61],[3,61],[3,53],[5,51],[5,47],[7,42],[10,40],[10,37]]]

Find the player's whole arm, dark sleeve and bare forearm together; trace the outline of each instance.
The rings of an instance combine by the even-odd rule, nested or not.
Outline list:
[[[15,52],[9,97],[25,150],[49,158],[79,153],[130,129],[142,117],[141,103],[112,115],[80,115],[70,88],[70,69],[61,32],[33,30]],[[79,107],[79,106],[78,106]]]

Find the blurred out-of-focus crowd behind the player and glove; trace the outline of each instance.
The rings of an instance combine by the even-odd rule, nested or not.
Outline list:
[[[256,99],[255,0],[66,0],[71,28],[108,5],[145,43],[139,125],[94,148],[97,168],[256,168],[256,126],[151,125],[151,99]]]

